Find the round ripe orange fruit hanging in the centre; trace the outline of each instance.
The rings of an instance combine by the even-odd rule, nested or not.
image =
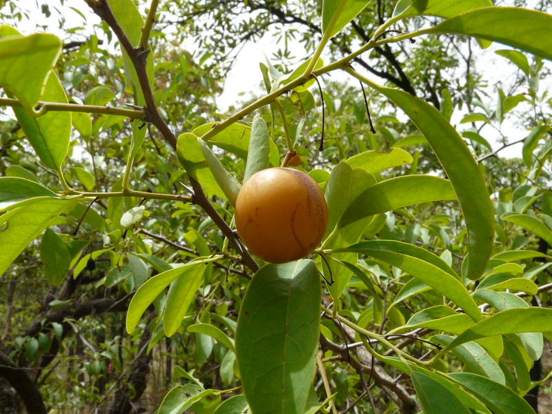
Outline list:
[[[292,168],[253,174],[235,205],[237,233],[255,255],[270,263],[301,259],[322,242],[328,206],[316,181]]]

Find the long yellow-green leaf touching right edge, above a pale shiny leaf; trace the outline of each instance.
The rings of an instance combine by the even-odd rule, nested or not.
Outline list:
[[[453,340],[447,348],[484,337],[509,333],[552,332],[552,309],[513,308],[506,309],[478,322]]]

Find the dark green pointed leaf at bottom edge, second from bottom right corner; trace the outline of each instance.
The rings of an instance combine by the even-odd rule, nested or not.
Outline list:
[[[413,372],[412,382],[424,414],[471,414],[449,388],[422,373]]]

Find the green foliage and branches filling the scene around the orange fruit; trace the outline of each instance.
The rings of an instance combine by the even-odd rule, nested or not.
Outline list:
[[[551,104],[538,86],[551,15],[487,0],[152,1],[147,16],[131,0],[86,3],[102,20],[70,50],[0,26],[0,105],[14,112],[0,127],[0,375],[29,410],[128,413],[155,382],[159,413],[533,412],[522,397],[548,379],[529,371],[552,332]],[[190,16],[223,21],[201,33],[214,57],[196,62],[152,31],[157,12],[182,13],[177,36],[199,35]],[[262,64],[266,94],[220,120],[213,61],[270,16],[318,30],[302,34],[311,57]],[[475,77],[444,76],[456,35],[534,55],[497,52],[520,79],[493,108]],[[368,67],[371,50],[383,60]],[[369,88],[373,125],[355,88],[315,97],[333,70]],[[489,130],[528,106],[509,164]],[[239,183],[295,153],[324,190],[328,230],[311,259],[259,266],[232,228]],[[155,358],[165,368],[150,380]]]

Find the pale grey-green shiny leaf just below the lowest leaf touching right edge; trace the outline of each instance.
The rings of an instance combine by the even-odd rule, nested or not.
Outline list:
[[[453,338],[446,335],[435,335],[431,341],[447,346],[453,341]],[[464,363],[463,372],[484,375],[490,380],[506,385],[502,369],[480,344],[468,342],[453,348],[452,353]]]

